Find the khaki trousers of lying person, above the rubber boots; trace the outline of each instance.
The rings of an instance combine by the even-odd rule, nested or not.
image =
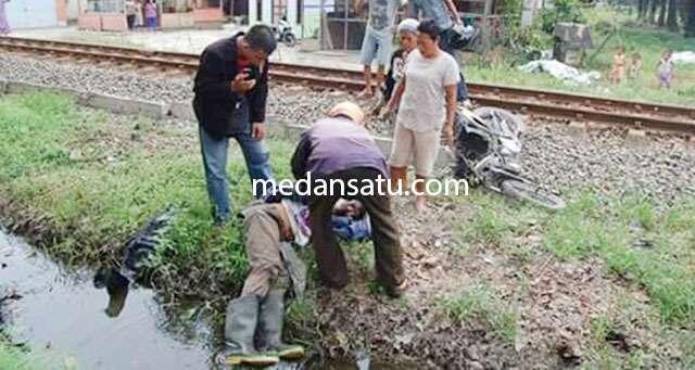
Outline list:
[[[243,210],[244,243],[251,269],[241,296],[265,296],[270,289],[287,289],[290,281],[280,255],[280,241],[289,221],[280,203],[252,203]]]

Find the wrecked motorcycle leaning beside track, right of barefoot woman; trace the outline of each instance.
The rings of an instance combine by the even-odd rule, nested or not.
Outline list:
[[[455,126],[457,178],[549,209],[565,207],[560,197],[521,175],[523,123],[519,117],[497,107],[459,106]]]

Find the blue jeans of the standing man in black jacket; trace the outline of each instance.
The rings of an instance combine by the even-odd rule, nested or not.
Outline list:
[[[253,184],[254,179],[270,180],[274,179],[273,169],[268,160],[270,152],[263,140],[256,140],[251,137],[251,124],[249,129],[232,136],[239,143],[241,152],[247,162],[249,177]],[[203,167],[205,168],[205,182],[207,183],[207,196],[213,204],[213,217],[215,222],[225,222],[231,217],[231,207],[229,205],[229,182],[227,180],[227,150],[229,148],[229,138],[216,140],[211,137],[205,129],[200,126],[200,144],[203,154]],[[266,188],[269,188],[267,184]],[[256,197],[261,197],[264,193],[261,186],[254,189]]]

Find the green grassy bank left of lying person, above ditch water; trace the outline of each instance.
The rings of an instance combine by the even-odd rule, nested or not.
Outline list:
[[[180,213],[154,261],[159,286],[193,294],[207,284],[205,293],[232,294],[248,266],[239,225],[212,226],[197,133],[163,125],[84,111],[55,94],[4,97],[0,197],[47,216],[62,237],[51,252],[73,261],[119,259],[124,240],[175,206]],[[273,140],[270,146],[278,153],[276,175],[288,176],[289,144]],[[239,209],[251,194],[238,149],[229,163]]]

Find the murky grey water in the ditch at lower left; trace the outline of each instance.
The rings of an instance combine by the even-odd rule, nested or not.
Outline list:
[[[3,331],[79,369],[210,368],[213,331],[201,310],[167,314],[152,291],[131,289],[119,315],[109,317],[106,291],[92,278],[0,231],[0,297],[21,296],[0,307]]]

